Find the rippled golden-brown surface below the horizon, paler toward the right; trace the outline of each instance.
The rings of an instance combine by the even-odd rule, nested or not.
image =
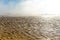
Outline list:
[[[0,40],[60,40],[60,20],[0,17]]]

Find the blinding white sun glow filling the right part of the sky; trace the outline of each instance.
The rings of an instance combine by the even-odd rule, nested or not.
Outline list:
[[[33,16],[52,17],[60,15],[60,0],[26,0],[22,2],[22,12]]]

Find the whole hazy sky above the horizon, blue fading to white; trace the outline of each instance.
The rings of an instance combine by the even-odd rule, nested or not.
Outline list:
[[[0,0],[0,15],[59,16],[60,0]]]

